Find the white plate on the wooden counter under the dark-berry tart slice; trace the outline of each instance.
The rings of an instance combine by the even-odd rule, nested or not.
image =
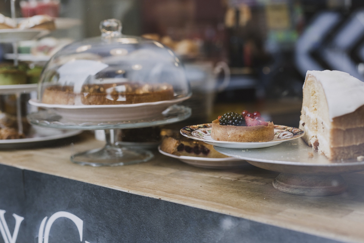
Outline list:
[[[174,154],[166,153],[161,150],[161,146],[158,146],[158,151],[165,156],[177,158],[186,164],[193,165],[201,168],[209,169],[228,169],[236,168],[247,164],[245,160],[239,158],[227,157],[227,158],[204,158],[194,156],[177,156]]]

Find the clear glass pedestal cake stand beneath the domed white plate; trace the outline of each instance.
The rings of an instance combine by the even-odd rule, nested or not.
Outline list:
[[[92,112],[92,109],[90,109]],[[119,141],[120,129],[145,128],[166,125],[189,118],[191,109],[186,106],[173,105],[162,114],[143,120],[120,122],[75,122],[62,118],[53,110],[43,110],[28,115],[32,125],[45,128],[75,129],[75,130],[105,130],[106,145],[103,148],[92,149],[71,156],[71,161],[80,165],[119,166],[146,162],[153,158],[149,150],[126,148]]]

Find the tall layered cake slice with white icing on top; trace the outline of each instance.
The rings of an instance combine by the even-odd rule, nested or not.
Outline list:
[[[364,155],[364,82],[346,72],[307,71],[302,137],[329,160]]]

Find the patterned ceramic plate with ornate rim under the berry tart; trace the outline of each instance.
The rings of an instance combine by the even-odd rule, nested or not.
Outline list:
[[[216,141],[211,138],[211,123],[186,126],[181,129],[185,137],[200,140],[214,146],[230,149],[258,149],[280,144],[284,141],[302,137],[305,132],[298,128],[274,125],[274,138],[268,142],[227,142]]]

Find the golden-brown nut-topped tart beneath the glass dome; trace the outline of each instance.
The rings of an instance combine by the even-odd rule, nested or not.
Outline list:
[[[80,94],[72,86],[49,86],[42,103],[58,105],[121,105],[166,101],[174,98],[173,87],[167,83],[108,83],[83,85]]]

